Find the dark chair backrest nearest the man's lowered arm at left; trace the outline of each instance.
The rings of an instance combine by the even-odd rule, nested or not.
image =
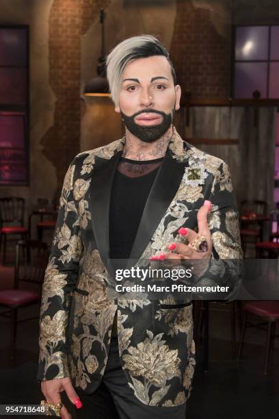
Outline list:
[[[19,281],[42,285],[49,259],[49,246],[38,240],[20,240],[16,244],[14,288]]]

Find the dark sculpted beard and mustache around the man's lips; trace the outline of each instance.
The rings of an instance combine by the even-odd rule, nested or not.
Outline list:
[[[142,127],[141,125],[135,123],[134,118],[137,115],[148,112],[152,112],[152,114],[161,115],[163,117],[162,122],[159,125],[150,125],[150,127]],[[124,122],[124,125],[127,127],[127,129],[129,129],[133,136],[139,138],[139,140],[142,140],[144,142],[154,142],[168,131],[170,125],[172,125],[172,118],[174,112],[171,112],[170,114],[165,114],[165,112],[156,110],[144,110],[139,111],[136,114],[133,114],[132,116],[127,116],[123,114],[122,111],[120,111],[120,114]]]

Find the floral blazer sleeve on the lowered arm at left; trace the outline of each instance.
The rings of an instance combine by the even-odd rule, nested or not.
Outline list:
[[[42,286],[39,381],[70,376],[66,329],[83,252],[79,216],[73,199],[74,172],[75,160],[64,178],[51,255]]]

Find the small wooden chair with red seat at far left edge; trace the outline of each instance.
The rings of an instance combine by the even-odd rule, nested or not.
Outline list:
[[[14,235],[19,235],[22,239],[28,237],[28,229],[23,226],[24,214],[25,199],[14,197],[0,199],[0,250],[3,242],[3,265],[6,261],[7,237]],[[9,226],[4,227],[4,224]]]

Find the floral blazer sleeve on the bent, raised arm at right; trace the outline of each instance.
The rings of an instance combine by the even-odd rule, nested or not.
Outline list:
[[[204,299],[231,301],[241,285],[242,258],[239,233],[239,212],[233,193],[230,170],[222,162],[215,172],[207,199],[212,208],[208,216],[213,253],[206,272],[196,278],[195,285],[227,287],[224,292],[201,293]]]

